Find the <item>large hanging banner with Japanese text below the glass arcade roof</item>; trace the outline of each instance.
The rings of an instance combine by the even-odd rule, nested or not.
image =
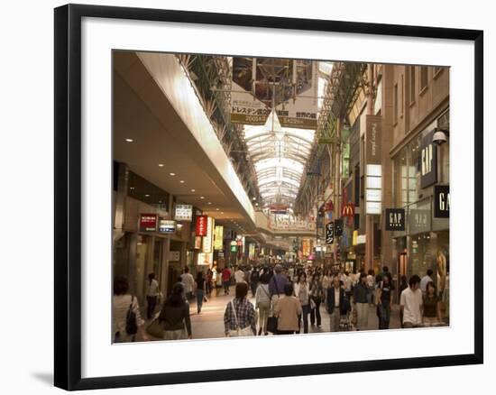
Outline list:
[[[317,85],[312,60],[233,58],[231,122],[265,124],[273,101],[282,127],[317,129]]]

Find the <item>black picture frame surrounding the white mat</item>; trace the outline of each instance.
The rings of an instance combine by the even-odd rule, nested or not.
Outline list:
[[[55,73],[55,348],[54,384],[91,390],[158,384],[260,379],[476,364],[483,362],[483,32],[478,30],[354,23],[263,15],[210,14],[100,5],[64,5],[54,10]],[[301,31],[369,33],[474,43],[474,353],[343,363],[255,367],[81,378],[81,20],[116,18],[207,23]]]

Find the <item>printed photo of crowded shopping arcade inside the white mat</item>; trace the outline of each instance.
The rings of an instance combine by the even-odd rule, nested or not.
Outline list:
[[[114,51],[113,119],[115,343],[449,326],[448,68]]]

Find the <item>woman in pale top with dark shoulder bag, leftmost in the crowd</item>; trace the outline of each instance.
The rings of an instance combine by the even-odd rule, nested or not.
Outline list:
[[[144,341],[148,336],[144,333],[144,321],[140,314],[138,299],[128,294],[129,283],[123,276],[114,279],[114,299],[112,301],[113,337],[115,343],[134,342],[136,335]],[[135,322],[128,320],[134,315]],[[134,329],[134,330],[133,330]],[[131,333],[129,333],[131,331]]]

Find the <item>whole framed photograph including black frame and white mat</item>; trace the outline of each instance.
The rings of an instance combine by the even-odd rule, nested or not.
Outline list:
[[[482,40],[56,8],[55,385],[482,363]]]

